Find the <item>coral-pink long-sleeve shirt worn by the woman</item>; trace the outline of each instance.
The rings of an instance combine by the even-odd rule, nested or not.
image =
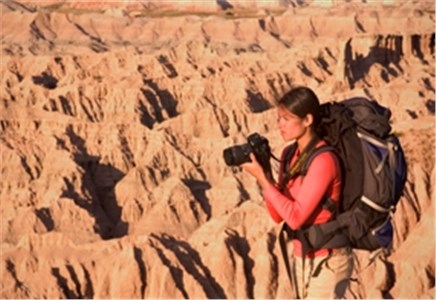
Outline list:
[[[317,147],[324,145],[320,141]],[[282,153],[282,160],[284,158]],[[291,158],[292,165],[298,158],[299,150]],[[282,168],[281,168],[282,170]],[[279,181],[283,174],[279,174]],[[288,182],[283,193],[273,184],[263,190],[263,197],[266,202],[269,214],[277,223],[285,221],[293,229],[301,229],[311,224],[327,222],[330,211],[322,209],[321,201],[325,196],[339,201],[341,193],[341,171],[338,159],[331,152],[322,152],[311,162],[306,175],[297,176]],[[320,249],[310,255],[326,255],[326,249]],[[302,256],[301,242],[294,240],[294,254]]]

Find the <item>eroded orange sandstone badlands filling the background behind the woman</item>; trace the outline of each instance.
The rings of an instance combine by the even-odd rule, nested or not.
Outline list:
[[[357,253],[350,297],[433,298],[433,3],[211,2],[2,1],[1,298],[289,297],[222,151],[256,131],[278,155],[296,84],[389,106],[406,151],[394,251]]]

